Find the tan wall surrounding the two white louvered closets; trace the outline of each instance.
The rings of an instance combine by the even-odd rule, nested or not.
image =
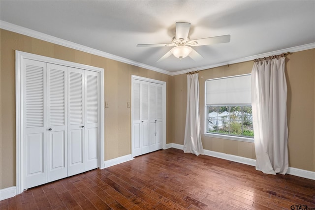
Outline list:
[[[15,131],[15,50],[68,60],[104,68],[104,94],[109,108],[105,108],[105,160],[131,153],[131,75],[165,81],[170,92],[171,76],[136,67],[115,60],[73,50],[7,30],[0,30],[0,189],[15,186],[16,182],[16,131]],[[167,94],[167,120],[170,95]],[[166,139],[170,139],[167,129]]]

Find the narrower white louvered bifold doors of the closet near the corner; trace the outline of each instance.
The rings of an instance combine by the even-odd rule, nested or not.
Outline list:
[[[132,150],[138,156],[163,147],[163,86],[133,79],[132,89]]]

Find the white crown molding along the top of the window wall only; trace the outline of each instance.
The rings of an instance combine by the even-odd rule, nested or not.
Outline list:
[[[205,70],[205,69],[215,68],[215,67],[219,67],[219,66],[223,66],[223,65],[229,65],[229,64],[234,64],[234,63],[250,61],[250,60],[254,60],[254,59],[258,59],[258,58],[264,58],[264,57],[269,57],[269,56],[278,55],[278,54],[282,54],[282,53],[286,53],[286,52],[294,53],[294,52],[299,52],[299,51],[303,51],[303,50],[310,50],[310,49],[313,49],[313,48],[315,48],[315,42],[314,43],[310,43],[310,44],[296,46],[296,47],[285,48],[285,49],[282,49],[282,50],[276,50],[276,51],[272,51],[272,52],[268,52],[268,53],[262,53],[262,54],[258,54],[258,55],[254,55],[254,56],[241,58],[241,59],[235,59],[235,60],[230,60],[230,61],[226,61],[226,62],[221,62],[221,63],[211,64],[211,65],[196,67],[196,68],[189,68],[189,69],[186,69],[186,70],[173,72],[171,74],[171,76],[175,76],[175,75],[179,75],[179,74],[185,74],[185,73],[190,72],[190,71],[202,71],[202,70]]]

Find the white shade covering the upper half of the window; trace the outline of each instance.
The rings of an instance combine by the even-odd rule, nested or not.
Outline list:
[[[252,104],[251,74],[206,81],[206,105]]]

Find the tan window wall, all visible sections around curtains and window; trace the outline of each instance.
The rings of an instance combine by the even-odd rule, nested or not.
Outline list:
[[[247,74],[252,71],[253,61],[225,65],[199,71],[200,126],[205,150],[223,152],[256,159],[254,144],[204,136],[205,80]],[[315,49],[296,52],[286,58],[285,74],[288,86],[288,150],[289,166],[315,171]],[[187,100],[187,75],[173,76],[176,107],[173,125],[173,143],[183,145]]]

